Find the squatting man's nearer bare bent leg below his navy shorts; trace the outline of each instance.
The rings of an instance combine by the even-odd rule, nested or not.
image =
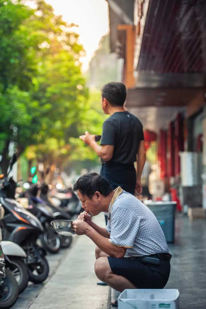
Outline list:
[[[94,265],[96,276],[106,282],[113,289],[122,292],[125,289],[136,289],[128,279],[123,276],[118,276],[112,273],[107,257],[99,257]]]

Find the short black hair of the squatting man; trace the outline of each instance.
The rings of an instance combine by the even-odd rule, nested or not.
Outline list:
[[[112,192],[112,187],[103,176],[97,173],[88,173],[79,177],[73,190],[78,190],[82,195],[91,199],[96,191],[99,191],[103,196],[108,196]]]

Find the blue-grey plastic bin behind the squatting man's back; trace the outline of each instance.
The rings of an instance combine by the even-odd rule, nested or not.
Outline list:
[[[167,243],[174,242],[174,220],[177,202],[147,201],[147,207],[153,212],[163,230]]]

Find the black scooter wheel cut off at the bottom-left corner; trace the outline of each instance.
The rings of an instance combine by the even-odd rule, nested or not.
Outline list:
[[[0,308],[11,308],[19,295],[19,287],[11,271],[5,269],[5,278],[0,278]]]

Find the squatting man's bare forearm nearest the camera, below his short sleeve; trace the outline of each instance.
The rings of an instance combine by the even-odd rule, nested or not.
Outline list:
[[[108,240],[108,238],[103,237],[97,231],[94,230],[92,226],[88,226],[88,230],[86,235],[97,245],[97,247],[108,254],[108,256],[112,257],[124,257],[125,248],[116,247],[112,245]]]

